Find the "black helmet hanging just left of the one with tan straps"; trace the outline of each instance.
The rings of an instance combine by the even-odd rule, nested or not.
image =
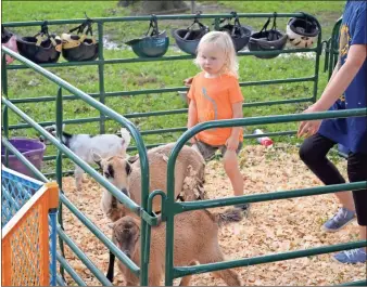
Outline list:
[[[16,45],[22,56],[37,64],[55,63],[60,57],[60,37],[49,35],[47,22],[41,25],[41,30],[34,37],[17,37]]]

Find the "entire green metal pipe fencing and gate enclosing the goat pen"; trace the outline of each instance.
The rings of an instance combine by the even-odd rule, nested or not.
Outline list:
[[[215,23],[218,23],[219,18],[228,17],[231,14],[202,14],[202,15],[157,15],[159,19],[193,19],[194,17],[199,18],[214,18]],[[273,13],[244,13],[238,14],[239,17],[245,18],[261,18],[261,17],[270,17]],[[294,16],[304,16],[304,13],[278,13],[278,17],[294,17]],[[306,14],[308,15],[308,14]],[[312,15],[309,17],[315,18]],[[2,48],[2,104],[3,104],[3,133],[4,139],[3,143],[7,146],[7,151],[14,151],[14,147],[11,146],[9,141],[9,130],[18,130],[26,128],[34,128],[41,135],[48,139],[58,149],[58,154],[55,156],[46,157],[48,160],[55,160],[55,172],[48,175],[56,175],[58,182],[60,184],[60,193],[61,193],[61,205],[65,206],[68,210],[71,210],[81,222],[85,224],[113,253],[116,255],[118,260],[124,262],[136,275],[140,276],[140,284],[148,285],[148,272],[149,272],[149,256],[150,256],[150,234],[151,226],[157,224],[157,218],[152,212],[152,200],[155,196],[162,197],[162,219],[167,221],[167,230],[166,230],[166,273],[165,273],[165,283],[166,285],[172,285],[173,279],[176,277],[180,277],[189,274],[199,274],[208,271],[223,270],[227,268],[233,266],[242,266],[242,265],[251,265],[251,264],[261,264],[266,262],[274,262],[279,260],[288,260],[292,258],[299,258],[304,256],[319,255],[326,253],[337,250],[351,249],[355,247],[366,246],[366,243],[356,242],[349,243],[336,246],[327,246],[319,248],[312,248],[308,250],[298,250],[287,253],[278,253],[271,256],[264,256],[251,259],[242,259],[237,261],[222,262],[222,263],[213,263],[205,264],[200,266],[173,266],[173,240],[174,240],[174,217],[180,212],[186,212],[189,210],[195,210],[201,208],[212,208],[219,206],[228,206],[240,203],[257,203],[264,200],[276,200],[281,198],[292,198],[300,196],[311,196],[326,193],[333,193],[340,191],[350,191],[350,190],[360,190],[364,188],[367,182],[358,182],[358,183],[349,183],[341,185],[332,185],[332,186],[321,186],[321,187],[313,187],[313,188],[304,188],[292,192],[277,192],[277,193],[268,193],[268,194],[256,194],[250,196],[240,196],[225,199],[213,199],[213,200],[203,200],[197,203],[175,203],[174,198],[174,170],[175,170],[175,161],[179,151],[187,143],[187,141],[197,134],[198,132],[211,129],[215,127],[243,127],[243,126],[254,126],[254,125],[265,125],[265,123],[278,123],[278,122],[293,122],[301,120],[311,120],[311,119],[324,119],[324,118],[333,118],[333,117],[349,117],[349,116],[365,116],[367,113],[366,108],[360,109],[350,109],[343,112],[331,112],[331,113],[315,113],[315,114],[302,114],[302,115],[283,115],[283,116],[269,116],[269,117],[254,117],[254,118],[245,118],[238,120],[222,120],[222,121],[210,121],[205,123],[201,123],[195,126],[194,128],[187,130],[185,127],[175,127],[175,128],[165,128],[165,129],[155,129],[155,130],[143,130],[139,132],[137,128],[127,119],[127,118],[138,118],[138,117],[154,117],[154,116],[163,116],[163,115],[178,115],[186,114],[187,108],[179,108],[174,110],[154,110],[154,112],[145,112],[145,113],[131,113],[121,116],[111,108],[104,106],[105,99],[112,96],[126,96],[126,95],[139,95],[139,94],[152,94],[152,93],[167,93],[175,91],[187,91],[186,87],[174,87],[174,88],[164,88],[164,89],[144,89],[137,91],[114,91],[106,92],[104,87],[104,65],[114,65],[114,64],[127,64],[127,63],[143,63],[143,62],[154,62],[154,61],[181,61],[181,60],[192,60],[191,55],[180,55],[180,56],[163,56],[155,58],[113,58],[113,60],[104,60],[103,55],[103,24],[105,23],[117,23],[117,22],[135,22],[135,21],[149,21],[151,16],[131,16],[131,17],[109,17],[109,18],[93,18],[93,21],[98,24],[98,35],[99,35],[99,58],[97,61],[90,62],[67,62],[67,63],[55,63],[55,64],[42,64],[36,65],[33,62],[24,58],[23,56],[12,52],[7,48]],[[49,25],[62,25],[62,24],[80,24],[85,19],[60,19],[60,21],[49,21]],[[249,56],[249,55],[265,55],[265,54],[278,54],[279,52],[282,54],[292,54],[292,53],[303,53],[303,52],[313,52],[316,54],[315,57],[315,70],[314,75],[311,77],[301,77],[301,78],[290,78],[290,79],[274,79],[274,80],[262,80],[262,81],[246,81],[240,82],[241,87],[251,87],[251,86],[265,86],[265,84],[281,84],[281,83],[292,83],[292,82],[313,82],[313,95],[311,97],[304,99],[292,99],[292,100],[277,100],[277,101],[264,101],[264,102],[252,102],[243,104],[243,107],[253,107],[253,106],[265,106],[265,105],[280,105],[280,104],[292,104],[292,103],[303,103],[303,102],[315,102],[317,96],[317,87],[319,80],[319,61],[320,55],[322,53],[324,43],[327,47],[327,63],[325,67],[329,68],[329,73],[331,70],[332,65],[336,63],[336,49],[337,49],[337,34],[339,32],[340,21],[336,24],[331,40],[321,41],[321,27],[318,21],[315,18],[318,28],[319,36],[316,48],[312,49],[289,49],[283,51],[263,51],[263,52],[239,52],[239,56]],[[4,23],[5,27],[28,27],[28,26],[39,26],[42,22],[18,22],[18,23]],[[338,52],[338,51],[337,51]],[[5,65],[5,54],[11,55],[22,63],[22,65]],[[99,93],[86,94],[77,88],[73,87],[68,82],[62,80],[60,77],[56,77],[52,73],[48,71],[45,68],[48,67],[71,67],[71,66],[97,66],[99,74]],[[30,68],[36,73],[42,75],[48,80],[54,82],[58,86],[56,96],[45,95],[40,97],[28,97],[28,99],[8,99],[8,79],[7,73],[8,70],[13,69],[25,69]],[[67,91],[71,94],[63,95],[63,92]],[[96,101],[94,99],[99,99]],[[81,118],[81,119],[66,119],[64,120],[62,117],[63,110],[63,101],[73,101],[73,100],[83,100],[88,105],[97,108],[99,110],[99,117],[91,118]],[[28,117],[23,110],[15,106],[15,104],[21,103],[43,103],[43,102],[55,102],[55,120],[54,121],[43,121],[43,122],[35,122],[30,117]],[[16,123],[9,125],[9,109],[12,113],[15,113],[20,116],[25,123]],[[86,165],[83,160],[80,160],[74,153],[72,153],[68,148],[66,148],[61,142],[61,127],[62,123],[86,123],[86,122],[99,122],[100,132],[104,133],[105,131],[105,121],[106,120],[115,120],[119,125],[126,127],[135,139],[138,149],[140,164],[141,164],[141,181],[142,181],[142,191],[141,191],[141,207],[136,205],[129,198],[127,198],[124,194],[122,194],[115,186],[110,184],[104,178],[102,178],[96,170]],[[42,128],[45,126],[56,123],[59,134],[55,138],[48,134],[48,132]],[[154,143],[151,145],[144,145],[141,135],[149,134],[157,134],[157,133],[167,133],[167,132],[185,132],[178,140],[175,148],[172,152],[172,155],[168,160],[167,167],[167,195],[162,191],[154,191],[149,194],[149,165],[147,158],[147,147],[156,146],[162,143]],[[273,133],[266,133],[265,135],[286,135],[286,134],[294,134],[295,131],[279,131]],[[257,134],[245,134],[244,138],[254,139],[262,135]],[[16,153],[14,153],[16,154]],[[22,159],[22,155],[18,153],[20,158]],[[138,213],[141,217],[141,265],[138,268],[132,261],[130,261],[111,240],[107,238],[84,213],[81,213],[71,200],[63,194],[62,191],[62,175],[65,172],[62,170],[62,159],[71,158],[77,165],[79,165],[87,173],[89,173],[92,178],[94,178],[103,187],[105,187],[109,192],[111,192],[119,201],[124,203],[128,208]],[[23,161],[23,160],[22,160]],[[29,167],[31,170],[33,168]],[[38,170],[35,170],[38,177],[41,177],[43,180],[47,180],[45,174],[40,173]],[[80,258],[80,260],[92,271],[94,276],[103,284],[111,285],[111,283],[105,278],[103,273],[97,269],[97,266],[83,253],[79,247],[67,236],[67,234],[63,231],[62,227],[62,209],[60,209],[60,218],[59,218],[59,226],[58,233],[60,238],[60,247],[61,255],[58,253],[58,261],[61,265],[61,276],[58,275],[58,284],[65,285],[64,281],[64,271],[66,271],[78,285],[86,285],[85,282],[78,276],[78,274],[73,270],[73,268],[67,263],[64,258],[63,252],[63,244],[66,243],[73,251]],[[365,282],[355,282],[350,283],[347,285],[359,285]]]

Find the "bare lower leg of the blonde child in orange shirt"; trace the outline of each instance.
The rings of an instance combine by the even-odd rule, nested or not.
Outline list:
[[[225,171],[232,184],[235,196],[243,195],[243,178],[238,165],[236,151],[226,151],[223,164]]]

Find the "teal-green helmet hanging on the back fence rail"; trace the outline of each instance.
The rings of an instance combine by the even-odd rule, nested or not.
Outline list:
[[[142,38],[127,41],[126,44],[130,45],[134,53],[140,57],[163,56],[168,50],[169,38],[166,31],[160,32],[156,16],[152,15],[145,35]]]

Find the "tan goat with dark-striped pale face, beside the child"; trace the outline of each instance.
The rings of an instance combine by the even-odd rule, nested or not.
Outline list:
[[[174,143],[154,147],[148,151],[150,186],[154,190],[167,191],[167,160]],[[124,158],[113,156],[101,158],[93,153],[94,161],[101,167],[102,174],[118,190],[141,205],[141,168],[137,157]],[[132,161],[132,162],[131,162]],[[175,168],[175,196],[176,199],[192,201],[204,199],[203,192],[205,162],[201,155],[189,146],[184,146],[178,154]],[[104,191],[101,201],[102,210],[115,221],[124,214],[124,207],[116,201],[107,191]],[[161,211],[161,198],[153,199],[153,211]]]

